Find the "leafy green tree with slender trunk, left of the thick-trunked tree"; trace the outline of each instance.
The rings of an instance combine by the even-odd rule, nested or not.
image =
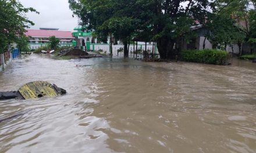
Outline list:
[[[107,37],[120,39],[124,43],[124,54],[128,57],[127,44],[136,30],[136,19],[130,16],[134,10],[133,0],[69,0],[70,9],[81,19],[81,25],[101,40]]]

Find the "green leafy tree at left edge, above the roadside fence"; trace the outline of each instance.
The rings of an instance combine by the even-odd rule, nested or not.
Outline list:
[[[0,0],[0,53],[13,42],[18,42],[24,36],[28,24],[32,21],[24,16],[27,12],[36,12],[33,8],[24,8],[16,0]],[[36,12],[38,13],[38,12]]]

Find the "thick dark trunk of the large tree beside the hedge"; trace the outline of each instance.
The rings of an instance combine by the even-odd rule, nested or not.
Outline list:
[[[160,54],[160,59],[174,59],[175,53],[173,52],[173,45],[175,41],[170,40],[167,37],[157,39],[157,48]]]

